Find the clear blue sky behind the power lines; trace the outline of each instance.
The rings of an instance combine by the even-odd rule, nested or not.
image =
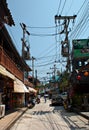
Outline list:
[[[21,55],[23,31],[20,23],[26,25],[30,33],[30,36],[26,35],[27,44],[30,45],[30,56],[35,58],[34,72],[37,70],[38,79],[45,80],[48,77],[47,73],[53,72],[54,65],[56,71],[65,70],[65,58],[61,55],[61,41],[64,40],[65,35],[58,34],[62,26],[58,26],[58,21],[55,24],[55,15],[77,14],[75,23],[73,24],[73,21],[70,23],[69,40],[88,38],[86,30],[89,13],[86,17],[84,14],[88,11],[88,0],[7,0],[7,3],[15,26],[6,25],[6,27]],[[27,61],[27,64],[32,68],[32,60]]]

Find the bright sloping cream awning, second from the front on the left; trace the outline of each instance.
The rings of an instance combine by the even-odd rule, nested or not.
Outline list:
[[[26,88],[22,81],[16,79],[14,81],[14,93],[29,93],[29,90]]]

